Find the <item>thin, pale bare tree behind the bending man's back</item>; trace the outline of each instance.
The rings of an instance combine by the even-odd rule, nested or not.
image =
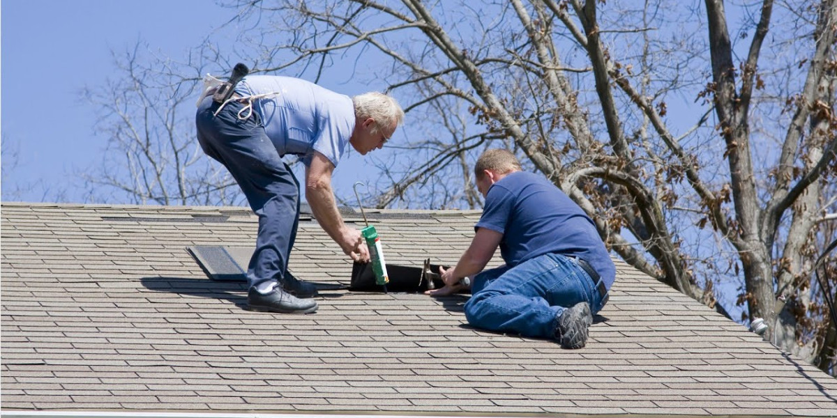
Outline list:
[[[241,204],[233,178],[205,158],[194,139],[194,100],[203,68],[191,63],[201,61],[199,56],[182,64],[137,42],[124,54],[115,53],[114,61],[116,79],[84,92],[100,109],[96,128],[108,141],[101,169],[82,174],[91,200]]]

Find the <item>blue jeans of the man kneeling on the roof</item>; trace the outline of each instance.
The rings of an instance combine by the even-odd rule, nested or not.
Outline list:
[[[465,303],[468,323],[491,331],[552,339],[557,319],[576,303],[590,303],[596,314],[602,296],[575,258],[544,254],[477,274]]]

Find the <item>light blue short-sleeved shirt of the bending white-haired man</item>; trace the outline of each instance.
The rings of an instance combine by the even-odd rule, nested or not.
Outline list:
[[[254,100],[264,131],[280,155],[302,155],[306,166],[317,151],[337,166],[355,129],[352,98],[304,79],[248,75],[236,86],[244,96],[274,93]]]

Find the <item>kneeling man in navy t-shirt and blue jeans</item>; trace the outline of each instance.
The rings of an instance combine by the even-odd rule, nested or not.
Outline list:
[[[474,171],[485,196],[475,237],[459,263],[442,270],[444,288],[429,294],[458,291],[476,274],[465,303],[470,324],[582,348],[615,278],[593,221],[546,178],[521,171],[507,150],[486,150]],[[506,265],[482,272],[497,247]]]

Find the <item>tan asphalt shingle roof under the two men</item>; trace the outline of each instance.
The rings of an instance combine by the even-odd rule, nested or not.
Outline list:
[[[384,213],[367,216],[388,263],[411,265],[455,263],[479,217]],[[244,284],[184,251],[251,247],[244,208],[3,203],[0,227],[3,411],[837,415],[837,380],[624,263],[569,351],[468,327],[466,296],[244,310]],[[347,283],[352,266],[308,217],[290,268]]]

